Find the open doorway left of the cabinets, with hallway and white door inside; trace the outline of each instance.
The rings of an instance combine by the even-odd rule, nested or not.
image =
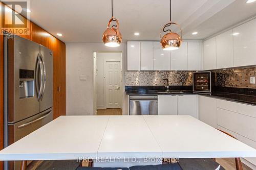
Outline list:
[[[122,53],[95,52],[95,114],[122,115]]]

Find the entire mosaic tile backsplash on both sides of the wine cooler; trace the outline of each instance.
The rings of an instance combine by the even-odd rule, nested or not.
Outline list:
[[[215,75],[215,86],[256,89],[250,84],[250,77],[256,76],[256,66],[246,68],[227,68],[212,70]],[[126,71],[125,86],[164,86],[168,78],[169,85],[193,85],[192,71]]]

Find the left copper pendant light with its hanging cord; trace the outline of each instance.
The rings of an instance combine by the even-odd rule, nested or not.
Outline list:
[[[109,20],[108,25],[106,26],[106,30],[102,35],[102,41],[104,42],[105,46],[116,47],[120,46],[122,42],[122,35],[119,31],[119,22],[116,18],[113,17],[113,0],[111,0],[111,14],[112,17]],[[110,27],[112,21],[116,21],[116,25]]]

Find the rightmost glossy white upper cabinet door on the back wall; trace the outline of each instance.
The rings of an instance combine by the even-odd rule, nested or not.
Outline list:
[[[200,70],[200,42],[187,42],[187,69]]]

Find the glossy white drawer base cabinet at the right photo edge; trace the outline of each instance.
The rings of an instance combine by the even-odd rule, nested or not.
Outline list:
[[[256,106],[217,100],[218,128],[232,134],[241,142],[256,149]],[[256,158],[244,158],[252,169]]]

